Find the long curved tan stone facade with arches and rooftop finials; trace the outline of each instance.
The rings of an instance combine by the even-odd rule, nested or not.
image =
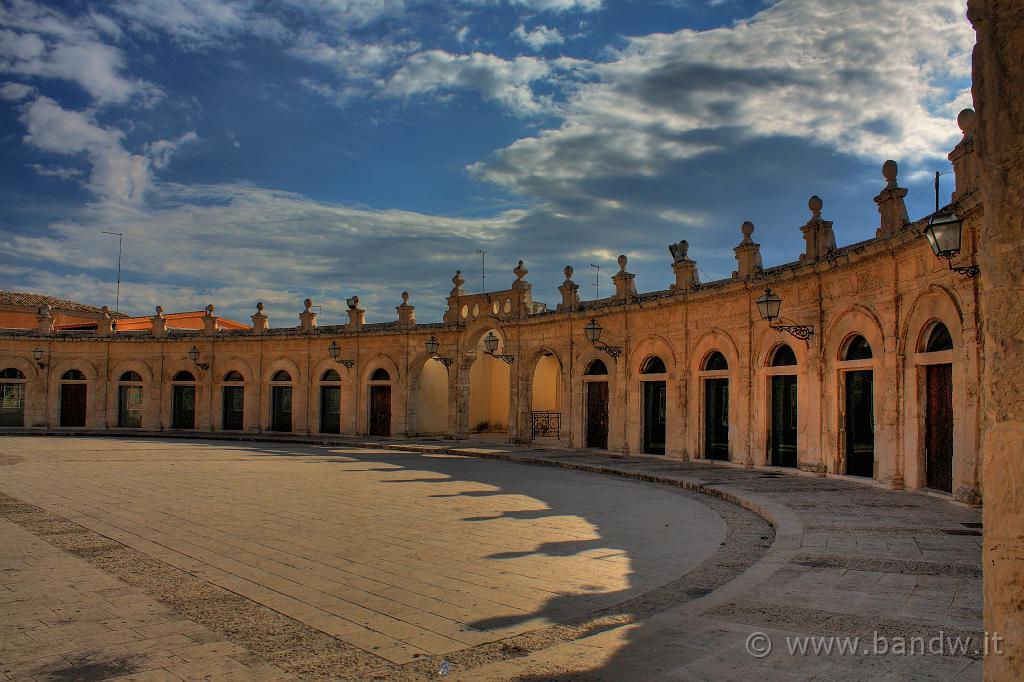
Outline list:
[[[973,155],[970,135],[965,130],[965,142],[951,158],[965,162]],[[957,165],[969,175],[956,177],[965,248],[953,264],[973,262],[982,220],[969,161]],[[698,281],[696,262],[682,242],[670,247],[671,288],[638,293],[622,256],[611,278],[612,296],[581,301],[566,268],[561,303],[547,310],[534,302],[520,261],[515,281],[498,292],[468,294],[456,273],[439,324],[417,324],[408,295],[396,308],[397,321],[387,324],[366,324],[354,298],[347,325],[318,326],[307,300],[295,327],[268,324],[272,314],[259,304],[251,331],[218,329],[212,307],[204,330],[169,329],[158,309],[153,330],[144,333],[2,331],[0,370],[14,368],[24,375],[24,427],[30,429],[59,427],[62,384],[78,381],[87,386],[83,428],[117,431],[124,421],[120,385],[133,380],[142,389],[137,426],[142,430],[174,426],[178,386],[191,394],[188,425],[196,430],[225,428],[229,388],[241,389],[232,394],[241,394],[236,399],[244,406],[233,426],[270,430],[275,411],[285,409],[279,389],[287,388],[287,430],[295,433],[327,429],[459,438],[489,430],[515,441],[557,437],[581,447],[594,445],[589,384],[606,382],[608,450],[699,459],[709,456],[710,430],[721,426],[723,455],[744,465],[772,463],[773,377],[795,376],[788,425],[795,429],[794,463],[835,474],[851,469],[848,375],[869,371],[866,437],[873,453],[867,473],[892,487],[922,488],[928,483],[924,377],[929,366],[946,365],[953,415],[949,491],[977,503],[982,495],[979,283],[933,255],[922,235],[927,220],[904,219],[905,190],[897,185],[894,163],[887,162],[884,178],[876,198],[881,227],[874,239],[837,247],[833,223],[822,217],[823,202],[812,197],[811,215],[800,227],[806,251],[799,260],[764,267],[752,239],[754,225],[746,222],[735,249],[736,271],[719,282]],[[809,326],[809,339],[762,319],[757,299],[766,288],[783,301],[776,324]],[[597,345],[585,333],[592,318],[601,328]],[[951,350],[926,352],[928,336],[939,324],[948,330]],[[497,347],[488,352],[490,335]],[[870,356],[848,359],[857,337],[866,340]],[[431,340],[437,344],[433,353],[427,351]],[[796,365],[773,364],[783,344]],[[39,361],[36,349],[42,351]],[[716,352],[724,366],[708,364]],[[662,365],[652,361],[655,355]],[[594,374],[595,359],[604,364],[605,375]],[[82,378],[66,379],[73,370]],[[725,383],[709,383],[713,380]],[[710,385],[724,387],[721,412],[712,415],[721,417],[721,425],[709,418]],[[321,414],[322,406],[333,404],[325,401],[325,387],[339,389],[337,415]],[[656,415],[652,399],[660,400]],[[388,413],[386,419],[380,410]],[[556,430],[539,436],[538,414],[556,415]],[[651,429],[664,429],[664,436],[651,436]]]

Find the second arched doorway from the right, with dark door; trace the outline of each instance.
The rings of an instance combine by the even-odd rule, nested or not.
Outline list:
[[[846,473],[874,476],[874,373],[871,346],[857,335],[843,353],[844,360],[844,454]]]

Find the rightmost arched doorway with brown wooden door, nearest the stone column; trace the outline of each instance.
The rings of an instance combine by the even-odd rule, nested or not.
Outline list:
[[[925,480],[932,489],[953,486],[953,340],[942,323],[923,339],[918,363],[925,366]],[[945,360],[945,361],[943,361]]]

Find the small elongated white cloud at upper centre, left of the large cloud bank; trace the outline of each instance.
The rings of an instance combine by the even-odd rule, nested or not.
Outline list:
[[[530,84],[548,78],[551,72],[547,61],[536,57],[503,59],[481,52],[429,50],[411,56],[388,79],[384,92],[408,97],[439,90],[476,90],[513,114],[529,116],[550,106],[550,98],[536,96]]]

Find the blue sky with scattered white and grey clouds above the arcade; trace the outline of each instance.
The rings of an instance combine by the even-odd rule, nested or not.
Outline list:
[[[639,291],[803,251],[818,195],[873,237],[882,163],[911,219],[971,105],[965,0],[0,0],[0,289],[368,322],[456,269],[554,305],[618,254]],[[944,178],[948,200],[950,178]]]

